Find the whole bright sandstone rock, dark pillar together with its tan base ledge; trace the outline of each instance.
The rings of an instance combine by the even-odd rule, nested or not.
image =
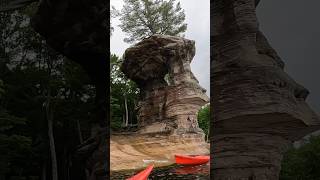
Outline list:
[[[139,131],[111,137],[111,170],[174,163],[175,154],[209,154],[197,113],[208,102],[191,72],[195,42],[155,35],[128,48],[121,70],[137,83]],[[165,77],[167,80],[165,80]]]

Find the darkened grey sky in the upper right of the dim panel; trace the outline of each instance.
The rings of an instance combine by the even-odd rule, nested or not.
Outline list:
[[[286,64],[286,72],[310,91],[307,101],[320,112],[320,1],[263,0],[260,28]]]

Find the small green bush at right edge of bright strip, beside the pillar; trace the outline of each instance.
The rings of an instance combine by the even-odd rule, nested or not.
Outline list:
[[[206,136],[209,136],[210,128],[210,104],[203,106],[198,112],[199,127],[204,131]]]

